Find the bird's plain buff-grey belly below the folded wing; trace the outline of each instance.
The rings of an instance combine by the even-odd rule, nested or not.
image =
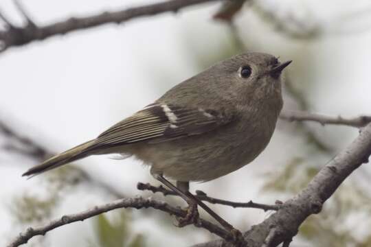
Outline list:
[[[258,146],[249,140],[248,135],[239,142],[225,141],[223,135],[200,135],[149,145],[135,156],[151,165],[152,172],[172,179],[207,181],[247,165],[269,141]]]

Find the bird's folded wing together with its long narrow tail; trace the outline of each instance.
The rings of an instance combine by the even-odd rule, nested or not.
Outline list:
[[[106,153],[102,150],[115,146],[139,141],[159,143],[201,134],[227,124],[231,120],[231,117],[227,118],[214,110],[153,104],[115,124],[100,134],[97,139],[71,148],[41,165],[32,167],[23,176],[35,176],[91,154]]]

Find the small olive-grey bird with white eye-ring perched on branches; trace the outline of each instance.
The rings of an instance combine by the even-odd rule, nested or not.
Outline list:
[[[94,154],[134,155],[150,165],[157,180],[179,193],[190,207],[193,205],[192,211],[199,204],[233,230],[188,192],[188,182],[234,172],[265,149],[282,108],[280,74],[290,62],[280,63],[262,53],[240,54],[218,62],[96,139],[49,158],[23,176],[41,174]],[[177,186],[164,177],[177,180]],[[188,216],[194,217],[194,213]]]

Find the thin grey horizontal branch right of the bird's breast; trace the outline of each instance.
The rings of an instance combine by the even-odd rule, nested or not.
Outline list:
[[[359,117],[346,119],[341,116],[332,117],[316,113],[307,113],[304,111],[284,111],[280,114],[280,119],[287,121],[315,121],[319,124],[322,124],[322,126],[326,124],[333,124],[357,128],[364,127],[371,122],[371,116],[369,115],[362,115]]]

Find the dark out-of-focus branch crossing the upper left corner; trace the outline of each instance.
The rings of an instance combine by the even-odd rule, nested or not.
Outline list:
[[[20,46],[30,43],[34,40],[44,40],[51,36],[58,34],[67,34],[76,30],[84,30],[90,27],[97,27],[106,23],[123,23],[131,19],[135,19],[142,16],[152,16],[164,12],[177,12],[181,8],[188,7],[190,5],[197,5],[201,3],[207,3],[212,1],[221,0],[171,0],[162,1],[160,3],[153,3],[148,5],[142,5],[133,8],[127,8],[126,10],[103,12],[102,14],[95,14],[87,17],[71,17],[65,21],[52,23],[49,25],[38,26],[36,25],[26,14],[25,9],[20,3],[16,3],[19,12],[23,14],[27,23],[24,27],[15,27],[5,19],[3,13],[0,12],[0,19],[8,25],[8,29],[0,31],[0,51],[5,51],[12,46]]]

